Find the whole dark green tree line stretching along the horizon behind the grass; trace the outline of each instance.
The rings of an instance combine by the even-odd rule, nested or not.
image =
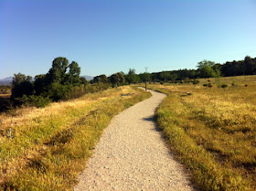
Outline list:
[[[67,58],[59,57],[52,61],[48,73],[37,75],[34,80],[25,74],[15,74],[12,82],[11,101],[14,106],[30,104],[43,107],[50,101],[78,98],[88,92],[105,90],[125,84],[253,74],[256,74],[256,58],[246,56],[244,60],[227,61],[224,64],[202,60],[197,63],[197,69],[178,69],[140,74],[136,74],[135,69],[129,69],[126,74],[122,71],[109,77],[101,74],[94,77],[93,80],[87,81],[80,77],[80,67],[76,61],[69,63]]]

